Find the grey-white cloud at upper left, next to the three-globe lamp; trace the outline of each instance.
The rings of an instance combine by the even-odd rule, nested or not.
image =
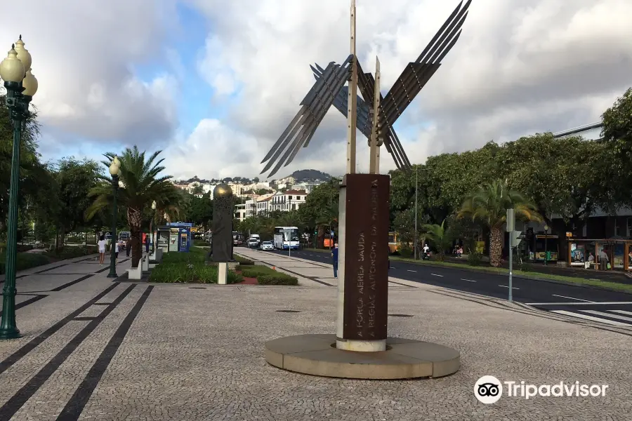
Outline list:
[[[178,123],[173,77],[138,79],[133,67],[163,53],[176,0],[31,0],[23,18],[6,19],[6,51],[23,35],[39,91],[44,130],[73,139],[138,143],[171,138]],[[41,141],[50,140],[44,137]]]

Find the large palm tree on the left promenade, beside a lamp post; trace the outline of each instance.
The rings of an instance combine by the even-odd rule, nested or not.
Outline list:
[[[169,182],[171,175],[160,175],[164,170],[161,166],[164,159],[158,159],[162,151],[157,151],[150,156],[140,152],[138,147],[127,148],[119,157],[121,168],[119,172],[118,201],[121,208],[126,208],[127,221],[131,232],[132,267],[138,267],[142,255],[140,235],[142,230],[143,210],[151,206],[152,201],[157,203],[157,215],[162,217],[169,212],[177,214],[179,194],[176,187]],[[116,154],[108,152],[104,155],[106,161],[102,161],[106,167],[110,166]],[[100,210],[111,206],[112,203],[112,178],[109,175],[100,177],[101,182],[93,187],[88,194],[94,197],[94,201],[88,210],[86,217],[91,219]]]

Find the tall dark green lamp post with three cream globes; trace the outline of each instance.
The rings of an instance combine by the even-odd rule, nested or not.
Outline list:
[[[29,102],[37,92],[37,79],[31,73],[31,55],[24,48],[22,35],[0,63],[0,77],[6,88],[6,106],[13,122],[13,154],[9,187],[8,226],[6,232],[6,274],[2,291],[0,339],[20,338],[15,324],[15,261],[18,258],[18,184],[20,182],[20,141],[29,116]]]

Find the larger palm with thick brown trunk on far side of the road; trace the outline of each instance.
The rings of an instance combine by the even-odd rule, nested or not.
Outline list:
[[[512,190],[507,180],[496,180],[480,187],[461,206],[457,218],[468,217],[480,220],[489,227],[489,264],[499,267],[502,255],[503,224],[507,209],[514,208],[516,217],[540,222],[541,215],[533,203],[520,192]]]

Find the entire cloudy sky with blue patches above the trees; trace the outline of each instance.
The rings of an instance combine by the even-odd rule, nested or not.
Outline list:
[[[357,56],[371,72],[378,56],[383,95],[457,4],[357,0]],[[28,19],[4,20],[0,46],[22,34],[32,54],[44,161],[138,145],[162,150],[175,178],[254,177],[314,83],[309,65],[349,54],[349,6],[25,0]],[[632,1],[473,0],[469,10],[456,46],[395,125],[412,163],[599,121],[632,86]],[[277,177],[341,175],[345,135],[332,107]],[[360,133],[357,148],[367,171]],[[383,151],[381,170],[393,168]]]

